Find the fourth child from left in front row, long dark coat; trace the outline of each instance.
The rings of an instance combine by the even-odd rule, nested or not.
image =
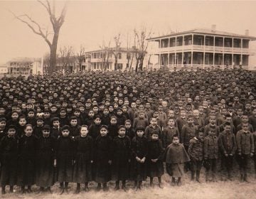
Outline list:
[[[61,128],[61,136],[56,144],[57,158],[57,181],[60,182],[60,194],[68,193],[68,183],[72,182],[73,159],[74,159],[74,140],[70,136],[70,127]]]

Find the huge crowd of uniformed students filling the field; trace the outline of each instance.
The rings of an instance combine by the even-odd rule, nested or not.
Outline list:
[[[256,171],[255,73],[246,70],[87,72],[68,77],[0,80],[1,193],[30,193],[60,183],[95,181],[96,190],[142,188],[161,176],[181,185],[184,171],[201,183],[249,182]],[[234,161],[236,160],[236,161]],[[27,188],[26,188],[27,187]],[[26,188],[26,189],[25,189]]]

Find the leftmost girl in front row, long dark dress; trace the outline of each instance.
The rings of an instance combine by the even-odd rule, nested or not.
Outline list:
[[[16,185],[16,169],[18,154],[18,139],[15,137],[16,127],[10,125],[6,136],[0,141],[1,161],[1,193],[5,194],[6,185],[10,185],[10,192],[14,192]]]

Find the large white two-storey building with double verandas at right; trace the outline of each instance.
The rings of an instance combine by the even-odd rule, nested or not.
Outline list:
[[[166,36],[148,38],[149,68],[209,68],[220,66],[242,66],[255,70],[250,57],[250,41],[256,37],[216,31],[211,29],[193,29]]]

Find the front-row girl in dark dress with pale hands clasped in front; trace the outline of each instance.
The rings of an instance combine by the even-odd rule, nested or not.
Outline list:
[[[142,188],[142,181],[146,180],[146,156],[148,153],[147,139],[144,137],[144,128],[138,127],[137,136],[132,139],[132,171],[135,188]]]

